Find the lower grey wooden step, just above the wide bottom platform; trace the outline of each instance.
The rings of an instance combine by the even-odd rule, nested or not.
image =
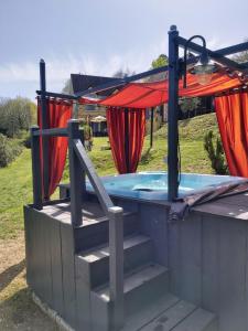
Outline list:
[[[125,316],[144,309],[152,300],[168,291],[168,269],[158,264],[149,264],[126,275],[125,277]],[[111,305],[109,287],[105,286],[91,291],[91,311],[97,311],[94,331],[109,331]]]

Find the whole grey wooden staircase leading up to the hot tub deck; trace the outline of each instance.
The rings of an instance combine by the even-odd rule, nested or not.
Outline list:
[[[136,213],[123,217],[125,325],[122,331],[217,331],[216,317],[170,293],[170,270],[155,261],[152,239]],[[108,218],[75,231],[76,293],[83,331],[112,331]],[[87,298],[87,299],[85,299]]]

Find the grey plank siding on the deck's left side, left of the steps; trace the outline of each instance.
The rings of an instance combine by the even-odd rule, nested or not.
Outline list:
[[[73,228],[29,206],[24,207],[24,214],[28,284],[44,302],[76,327]]]

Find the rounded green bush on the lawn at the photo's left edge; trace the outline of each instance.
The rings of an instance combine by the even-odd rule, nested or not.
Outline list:
[[[22,151],[20,143],[0,134],[0,168],[7,167]]]

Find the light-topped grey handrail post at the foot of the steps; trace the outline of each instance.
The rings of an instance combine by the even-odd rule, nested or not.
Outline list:
[[[123,210],[109,212],[109,295],[112,305],[111,330],[123,325]]]

